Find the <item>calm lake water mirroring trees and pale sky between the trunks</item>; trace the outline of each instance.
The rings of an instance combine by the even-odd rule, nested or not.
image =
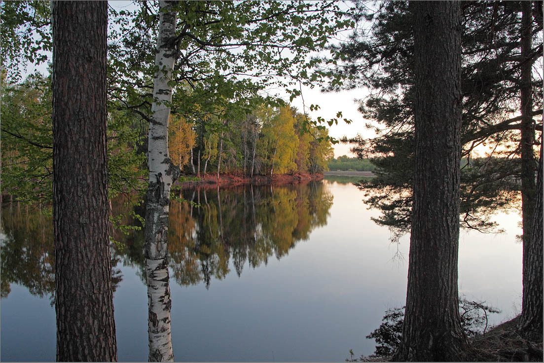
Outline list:
[[[365,336],[385,310],[405,303],[409,236],[392,244],[391,232],[370,219],[379,212],[363,192],[341,181],[184,190],[200,208],[172,201],[176,360],[343,361],[349,349],[373,353]],[[461,230],[459,292],[500,309],[490,316],[497,324],[521,311],[521,218],[493,220],[504,233]],[[119,360],[146,361],[143,232],[113,237]],[[54,361],[51,217],[4,207],[1,238],[0,359]]]

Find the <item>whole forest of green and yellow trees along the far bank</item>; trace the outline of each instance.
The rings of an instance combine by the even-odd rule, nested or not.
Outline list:
[[[51,200],[51,75],[30,75],[19,84],[2,83],[5,189],[17,201]],[[280,100],[281,101],[281,100]],[[191,121],[171,114],[168,149],[185,175],[322,173],[332,157],[326,128],[309,125],[307,115],[289,104],[257,104],[249,113],[220,121],[206,115]],[[23,122],[20,122],[24,120]],[[307,126],[309,125],[309,126]],[[304,127],[308,131],[304,131]],[[145,165],[147,126],[139,118],[108,113],[110,192],[136,189]],[[24,140],[24,142],[21,142]],[[32,156],[32,162],[29,161]],[[29,173],[29,170],[32,170]],[[36,190],[40,189],[40,193]]]

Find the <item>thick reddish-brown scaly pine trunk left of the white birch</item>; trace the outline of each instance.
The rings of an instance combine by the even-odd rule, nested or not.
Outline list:
[[[116,361],[106,161],[107,2],[52,2],[58,361]]]

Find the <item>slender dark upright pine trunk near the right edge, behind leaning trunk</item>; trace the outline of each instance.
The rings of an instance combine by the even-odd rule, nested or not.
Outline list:
[[[533,152],[534,125],[533,101],[531,99],[531,69],[533,63],[528,61],[531,52],[531,2],[521,2],[521,209],[523,226],[523,287],[528,287],[531,274],[529,260],[531,244],[531,225],[535,208],[535,160]],[[540,255],[542,258],[542,255]]]

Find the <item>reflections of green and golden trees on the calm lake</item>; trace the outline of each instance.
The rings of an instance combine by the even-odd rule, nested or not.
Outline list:
[[[332,194],[322,182],[226,189],[205,186],[183,190],[180,196],[185,201],[171,200],[169,256],[160,269],[163,274],[154,281],[161,285],[161,296],[168,295],[157,299],[161,304],[171,304],[168,279],[164,278],[168,275],[166,266],[177,284],[203,282],[209,288],[212,278],[221,280],[231,272],[230,266],[240,276],[246,262],[256,268],[267,264],[271,256],[286,256],[296,243],[307,240],[313,229],[327,223],[332,206]],[[112,201],[114,215],[127,212],[123,208],[122,199]],[[2,213],[2,297],[8,296],[10,284],[15,283],[27,287],[33,295],[50,297],[53,304],[51,216],[39,210],[17,213],[14,209],[10,213],[8,206]],[[144,211],[145,206],[134,210],[140,216]],[[128,217],[121,222],[139,225]],[[130,230],[127,235],[112,230],[110,235],[118,241],[112,244],[114,291],[122,280],[118,263],[137,268],[146,284],[143,230]]]

